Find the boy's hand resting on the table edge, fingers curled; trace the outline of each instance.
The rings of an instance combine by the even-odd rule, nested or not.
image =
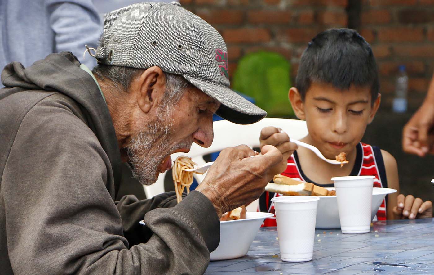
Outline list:
[[[414,199],[413,195],[398,195],[398,205],[393,208],[395,219],[421,219],[433,216],[433,205],[431,201]]]

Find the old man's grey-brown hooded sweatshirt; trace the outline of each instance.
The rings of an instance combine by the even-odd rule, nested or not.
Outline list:
[[[115,130],[75,56],[13,62],[1,80],[0,274],[204,273],[220,239],[213,205],[197,191],[115,203]]]

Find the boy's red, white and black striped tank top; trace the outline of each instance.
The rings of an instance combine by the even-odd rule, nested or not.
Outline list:
[[[356,146],[356,151],[357,154],[354,167],[349,176],[375,176],[374,187],[387,187],[386,169],[380,148],[359,142]],[[299,179],[304,182],[312,182],[313,184],[322,187],[334,187],[333,183],[319,184],[310,180],[301,169],[297,151],[294,151],[293,155],[289,157],[288,166],[286,170],[282,172],[282,175],[293,179]],[[259,199],[260,212],[269,212],[274,214],[274,205],[271,202],[271,199],[281,195],[282,194],[273,192],[264,192]],[[386,219],[386,199],[383,199],[383,202],[381,202],[381,205],[378,208],[378,220]],[[276,216],[265,219],[262,226],[276,226]]]

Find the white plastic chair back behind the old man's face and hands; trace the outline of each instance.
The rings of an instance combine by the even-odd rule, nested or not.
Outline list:
[[[214,122],[214,140],[210,147],[204,148],[196,143],[191,146],[190,152],[175,153],[172,155],[172,160],[180,155],[190,156],[191,159],[199,166],[205,163],[204,156],[210,153],[219,152],[227,147],[246,144],[253,147],[259,147],[259,135],[261,129],[266,126],[275,126],[283,129],[288,133],[290,139],[301,139],[307,135],[306,122],[297,119],[279,119],[266,117],[257,123],[249,125],[239,125],[231,123],[227,120],[219,120]],[[147,198],[164,192],[164,176],[160,174],[157,181],[151,186],[145,186],[145,194]],[[202,182],[204,175],[194,174],[194,178],[198,183]],[[257,201],[248,206],[248,211],[256,211]]]

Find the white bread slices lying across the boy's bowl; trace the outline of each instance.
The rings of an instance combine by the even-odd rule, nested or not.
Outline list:
[[[336,195],[336,192],[334,190],[329,191],[328,189],[314,185],[313,183],[291,179],[283,175],[274,176],[273,182],[269,182],[267,186],[265,186],[266,191],[283,195]]]

